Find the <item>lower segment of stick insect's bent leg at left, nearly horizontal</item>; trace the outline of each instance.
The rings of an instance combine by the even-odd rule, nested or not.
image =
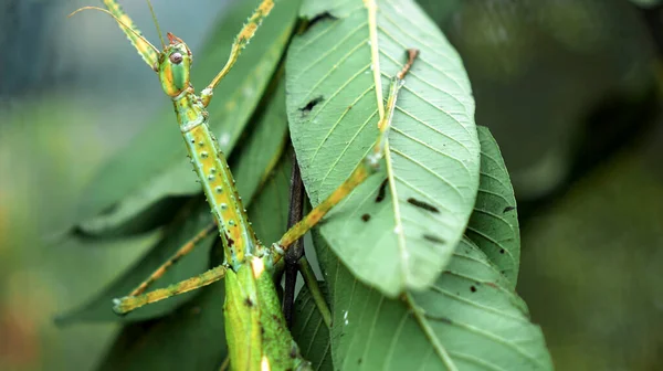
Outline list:
[[[228,268],[224,265],[220,265],[203,274],[172,284],[166,288],[159,288],[138,296],[127,296],[122,299],[114,299],[113,310],[118,315],[126,315],[144,305],[164,300],[171,296],[213,284],[225,276],[225,271],[228,271]]]

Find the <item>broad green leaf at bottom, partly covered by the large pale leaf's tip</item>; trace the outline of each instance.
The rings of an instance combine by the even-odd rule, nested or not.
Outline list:
[[[398,300],[359,283],[314,240],[332,296],[336,369],[552,370],[539,327],[470,240],[433,286]]]

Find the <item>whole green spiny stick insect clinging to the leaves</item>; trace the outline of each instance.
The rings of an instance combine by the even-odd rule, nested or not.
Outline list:
[[[273,0],[263,0],[260,3],[238,34],[225,66],[202,89],[200,95],[196,95],[189,81],[192,54],[182,40],[167,33],[169,43],[166,44],[161,36],[162,51],[159,51],[141,35],[117,2],[104,0],[104,4],[108,10],[84,7],[74,13],[94,9],[112,15],[143,60],[157,73],[164,92],[172,99],[191,163],[200,179],[215,220],[215,225],[212,224],[199,232],[133,293],[116,299],[114,310],[117,314],[127,314],[146,304],[225,278],[224,320],[231,368],[233,370],[308,369],[309,363],[301,356],[297,344],[286,327],[272,280],[272,272],[295,241],[316,225],[334,205],[377,170],[387,142],[387,132],[396,107],[398,91],[402,86],[403,77],[417,57],[418,51],[408,51],[408,62],[391,82],[386,115],[379,121],[379,137],[373,150],[326,200],[291,227],[278,242],[265,246],[257,240],[249,223],[227,159],[219,150],[217,140],[208,127],[209,115],[206,107],[212,98],[214,87],[231,70],[242,49],[273,8]],[[154,17],[149,0],[148,4]],[[157,29],[159,29],[158,23]],[[225,256],[222,265],[167,288],[144,294],[151,283],[158,279],[177,259],[190,252],[197,242],[211,233],[215,226],[218,226]],[[309,276],[308,280],[315,282],[315,278],[311,279]],[[318,304],[326,306],[324,301]]]

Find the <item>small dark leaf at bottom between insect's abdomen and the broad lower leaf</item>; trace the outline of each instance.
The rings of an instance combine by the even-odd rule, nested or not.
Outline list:
[[[323,293],[327,292],[323,282],[318,285]],[[334,370],[329,329],[306,286],[302,288],[295,300],[295,316],[291,332],[299,346],[302,356],[311,362],[314,370]]]

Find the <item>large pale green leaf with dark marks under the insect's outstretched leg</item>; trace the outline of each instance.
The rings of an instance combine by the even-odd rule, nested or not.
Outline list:
[[[421,51],[400,91],[381,170],[325,219],[322,233],[385,295],[424,289],[451,258],[478,187],[474,100],[462,62],[411,0],[311,0],[304,11],[308,19],[329,15],[294,39],[286,64],[291,134],[314,205],[368,153],[389,80],[406,49]]]

